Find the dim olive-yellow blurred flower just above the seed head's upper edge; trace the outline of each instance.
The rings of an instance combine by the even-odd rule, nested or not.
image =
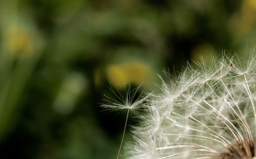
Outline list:
[[[191,60],[194,62],[202,62],[202,59],[204,59],[206,64],[210,64],[213,54],[214,48],[211,44],[199,44],[193,48]]]

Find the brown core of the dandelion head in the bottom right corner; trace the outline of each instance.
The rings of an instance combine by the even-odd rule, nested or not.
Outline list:
[[[217,159],[255,159],[255,140],[241,142],[237,141],[236,145],[229,145],[229,152],[222,152]]]

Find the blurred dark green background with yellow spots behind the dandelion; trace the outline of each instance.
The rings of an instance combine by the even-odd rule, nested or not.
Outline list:
[[[244,56],[255,15],[255,0],[0,1],[1,158],[116,158],[126,113],[99,107],[109,86]]]

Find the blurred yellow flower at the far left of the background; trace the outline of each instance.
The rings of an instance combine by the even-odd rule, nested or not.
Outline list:
[[[9,28],[6,33],[6,44],[15,56],[28,56],[34,50],[32,36],[25,28]]]

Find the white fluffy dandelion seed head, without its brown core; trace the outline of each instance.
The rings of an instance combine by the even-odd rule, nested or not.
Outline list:
[[[236,140],[255,139],[256,62],[221,58],[162,79],[139,100],[149,110],[133,132],[129,158],[218,158]],[[146,103],[145,103],[146,102]]]

